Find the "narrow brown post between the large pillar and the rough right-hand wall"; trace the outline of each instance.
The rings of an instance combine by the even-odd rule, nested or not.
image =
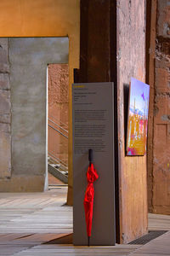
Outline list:
[[[156,49],[156,0],[146,1],[146,84],[150,84],[150,109],[148,119],[147,187],[148,211],[153,212],[153,135],[155,95],[155,49]]]

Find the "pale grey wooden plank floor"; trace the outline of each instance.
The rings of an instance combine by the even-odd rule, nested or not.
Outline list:
[[[45,193],[1,193],[0,255],[170,255],[170,232],[145,246],[74,247],[71,244],[47,244],[72,233],[72,207],[65,206],[66,192],[67,187],[60,185],[51,187]],[[170,216],[149,214],[149,226],[151,230],[170,230]]]

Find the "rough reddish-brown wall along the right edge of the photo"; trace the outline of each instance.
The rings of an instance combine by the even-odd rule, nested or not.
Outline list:
[[[153,198],[155,213],[170,214],[170,4],[157,1]]]

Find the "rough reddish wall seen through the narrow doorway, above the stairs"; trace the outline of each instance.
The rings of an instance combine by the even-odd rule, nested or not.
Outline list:
[[[65,125],[68,126],[68,86],[68,64],[48,65],[48,118],[65,130]],[[55,129],[68,136],[65,131],[59,129],[57,125],[54,125],[49,120],[48,124],[53,125]],[[54,155],[66,163],[68,162],[68,140],[49,126],[48,151],[53,152]]]

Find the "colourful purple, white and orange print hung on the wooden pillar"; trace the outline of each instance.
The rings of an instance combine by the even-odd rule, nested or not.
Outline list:
[[[150,85],[131,79],[127,122],[127,155],[146,154]]]

